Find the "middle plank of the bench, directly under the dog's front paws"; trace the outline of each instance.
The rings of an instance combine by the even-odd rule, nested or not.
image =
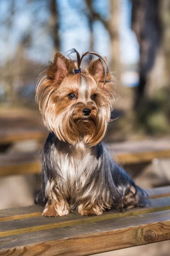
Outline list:
[[[170,209],[170,197],[153,199],[149,207],[133,208],[124,212],[109,211],[99,216],[81,216],[72,213],[59,218],[44,218],[41,216],[25,219],[22,218],[18,219],[17,221],[3,221],[0,224],[0,237],[48,229],[58,229],[61,227],[74,226],[83,223],[107,221],[115,218],[125,218],[127,216],[165,211],[168,209]]]

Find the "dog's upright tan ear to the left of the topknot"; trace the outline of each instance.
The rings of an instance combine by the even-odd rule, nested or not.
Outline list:
[[[65,58],[57,52],[54,56],[54,62],[48,67],[46,74],[49,78],[60,83],[68,73],[74,70],[74,61]]]

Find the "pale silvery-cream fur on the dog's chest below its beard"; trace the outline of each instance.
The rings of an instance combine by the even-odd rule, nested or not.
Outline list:
[[[65,150],[57,150],[56,164],[65,186],[74,189],[82,188],[93,172],[96,164],[94,148],[84,143],[77,143]]]

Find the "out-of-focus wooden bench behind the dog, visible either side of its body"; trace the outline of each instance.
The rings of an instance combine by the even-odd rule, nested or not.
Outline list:
[[[107,144],[108,151],[120,165],[149,163],[154,158],[170,157],[170,138]],[[37,174],[41,156],[37,152],[0,155],[0,175]]]

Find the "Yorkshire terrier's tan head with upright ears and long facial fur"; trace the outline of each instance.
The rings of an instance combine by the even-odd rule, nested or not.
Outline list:
[[[105,76],[99,59],[82,73],[74,74],[74,68],[74,61],[57,53],[37,82],[37,101],[45,125],[59,140],[70,144],[84,140],[94,146],[106,133],[114,82],[108,71]]]

